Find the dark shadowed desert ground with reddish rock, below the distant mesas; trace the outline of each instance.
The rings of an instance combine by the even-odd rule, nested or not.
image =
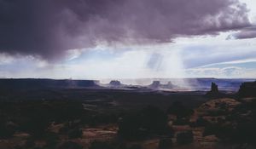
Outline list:
[[[256,98],[209,93],[8,89],[0,148],[255,148]]]

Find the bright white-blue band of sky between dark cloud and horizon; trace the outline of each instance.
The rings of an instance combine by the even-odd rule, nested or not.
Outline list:
[[[69,59],[57,64],[31,56],[7,56],[0,72],[3,77],[79,79],[256,77],[256,40],[226,40],[230,33],[177,38],[174,43],[154,46],[73,49]]]

